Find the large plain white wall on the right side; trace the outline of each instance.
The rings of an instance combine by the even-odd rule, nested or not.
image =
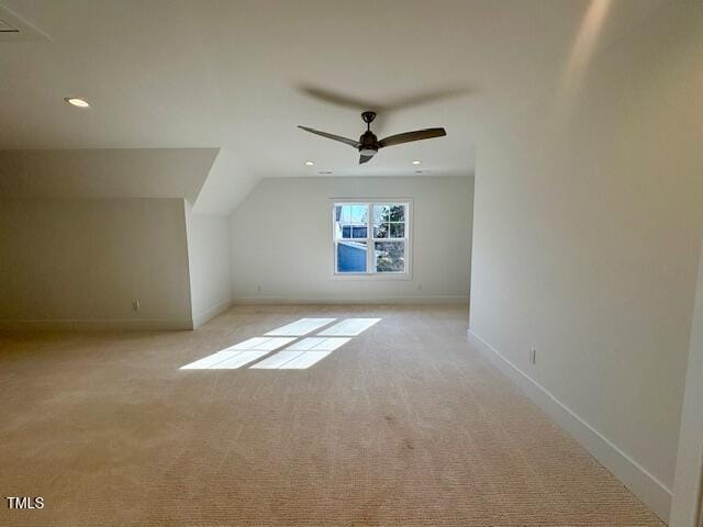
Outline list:
[[[667,4],[561,113],[496,114],[476,176],[470,332],[662,517],[703,214],[702,11]]]

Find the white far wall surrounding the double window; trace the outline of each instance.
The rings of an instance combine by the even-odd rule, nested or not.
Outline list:
[[[231,217],[234,300],[466,302],[472,194],[472,177],[264,179]],[[334,198],[413,200],[412,280],[332,278]]]

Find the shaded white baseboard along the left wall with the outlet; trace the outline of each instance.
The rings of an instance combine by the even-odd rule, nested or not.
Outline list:
[[[3,332],[170,332],[192,328],[192,321],[187,318],[0,321],[0,330]]]

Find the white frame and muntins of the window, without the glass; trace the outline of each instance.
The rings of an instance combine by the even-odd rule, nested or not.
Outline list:
[[[366,238],[349,238],[366,242],[366,272],[337,271],[337,239],[335,237],[335,205],[366,205],[368,206],[368,228]],[[392,204],[405,206],[405,236],[403,238],[373,238],[373,205]],[[411,280],[412,279],[412,239],[413,239],[413,200],[411,198],[333,198],[330,200],[330,238],[332,239],[332,278],[335,280]],[[395,272],[377,272],[375,242],[404,242],[405,270]]]

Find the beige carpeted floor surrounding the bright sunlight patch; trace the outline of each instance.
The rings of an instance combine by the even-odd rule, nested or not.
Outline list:
[[[302,316],[306,370],[179,370]],[[659,526],[466,339],[466,307],[235,307],[197,332],[0,337],[0,525]]]

